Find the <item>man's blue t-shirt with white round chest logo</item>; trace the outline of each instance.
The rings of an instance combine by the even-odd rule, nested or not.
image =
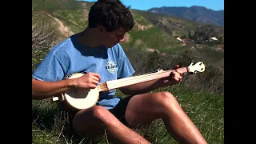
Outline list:
[[[99,84],[101,84],[118,78],[130,77],[134,74],[134,69],[120,44],[112,48],[105,46],[90,48],[80,45],[72,35],[50,50],[46,58],[34,70],[32,78],[56,82],[78,72],[100,74]],[[108,110],[116,106],[120,98],[114,95],[115,91],[100,92],[97,105],[104,106]]]

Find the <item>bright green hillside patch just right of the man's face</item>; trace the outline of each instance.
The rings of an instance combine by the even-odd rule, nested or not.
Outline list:
[[[132,10],[132,14],[135,26],[127,34],[129,38],[126,46],[141,50],[154,49],[164,53],[174,50],[174,47],[179,45],[179,42],[171,34],[154,26],[136,11]]]

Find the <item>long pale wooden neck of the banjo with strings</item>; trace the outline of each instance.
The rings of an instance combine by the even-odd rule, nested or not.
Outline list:
[[[187,73],[190,71],[189,67],[178,68],[182,73]],[[147,82],[158,78],[166,78],[170,75],[170,73],[174,70],[158,70],[158,72],[150,73],[150,74],[142,74],[129,78],[121,78],[117,80],[111,80],[107,82],[103,82],[98,86],[99,91],[107,91],[118,89],[124,86],[130,86],[141,82]]]

